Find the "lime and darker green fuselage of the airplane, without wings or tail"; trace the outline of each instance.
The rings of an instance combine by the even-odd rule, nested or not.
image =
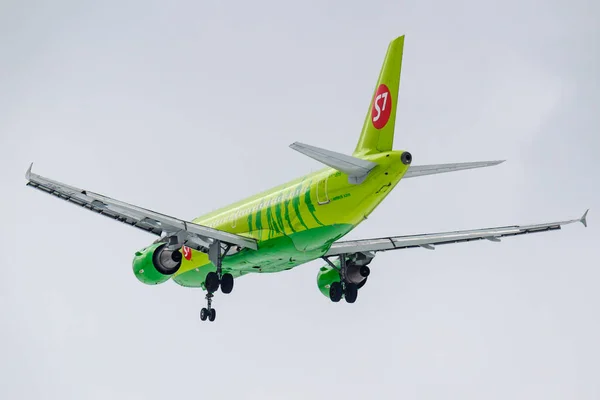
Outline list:
[[[239,277],[279,272],[323,256],[331,244],[362,222],[402,179],[408,166],[402,151],[364,156],[377,163],[360,185],[326,168],[232,204],[193,222],[253,237],[258,250],[243,249],[223,258],[223,271]],[[192,251],[173,276],[182,286],[204,287],[215,266]]]

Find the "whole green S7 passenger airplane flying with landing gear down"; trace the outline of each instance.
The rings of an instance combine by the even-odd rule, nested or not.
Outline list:
[[[579,219],[454,232],[340,241],[375,210],[402,179],[483,168],[502,161],[412,165],[412,155],[393,150],[404,36],[388,46],[363,128],[352,155],[303,143],[290,147],[324,168],[191,221],[161,214],[36,175],[27,185],[157,236],[137,251],[133,273],[144,284],[172,279],[206,291],[202,321],[214,321],[213,296],[231,293],[250,273],[286,271],[322,259],[317,287],[333,302],[354,303],[383,251],[489,240],[561,229]]]

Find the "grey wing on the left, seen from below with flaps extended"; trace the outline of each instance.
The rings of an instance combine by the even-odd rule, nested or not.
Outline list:
[[[196,250],[206,251],[210,244],[218,240],[225,244],[241,248],[257,249],[256,240],[224,232],[218,229],[195,224],[179,218],[147,210],[110,197],[79,189],[31,172],[33,164],[27,170],[27,186],[54,195],[80,207],[110,217],[116,221],[150,232],[154,235],[177,237],[178,243]]]

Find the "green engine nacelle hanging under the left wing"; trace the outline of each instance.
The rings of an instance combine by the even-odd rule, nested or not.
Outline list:
[[[166,243],[154,243],[135,253],[133,273],[146,285],[158,285],[179,270],[181,258],[179,250],[169,250]]]

